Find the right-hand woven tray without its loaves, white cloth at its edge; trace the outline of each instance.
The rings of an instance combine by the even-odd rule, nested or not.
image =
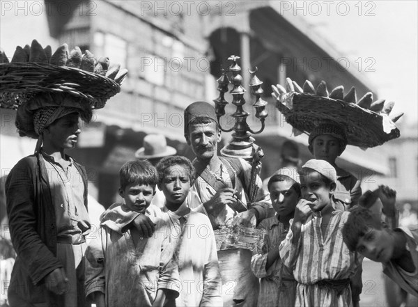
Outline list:
[[[400,136],[386,115],[358,107],[357,104],[309,93],[287,93],[277,101],[277,109],[286,122],[300,132],[310,134],[323,122],[334,122],[346,130],[350,145],[371,148]]]

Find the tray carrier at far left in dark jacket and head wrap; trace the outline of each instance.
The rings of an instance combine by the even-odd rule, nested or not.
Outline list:
[[[46,107],[56,101],[62,102],[60,107]],[[91,118],[85,108],[74,107],[77,102],[68,94],[42,93],[17,110],[17,123],[22,118],[26,125],[32,123],[38,143],[35,155],[17,162],[6,180],[17,253],[8,290],[10,306],[86,304],[87,176],[84,167],[65,153],[75,148],[80,117],[86,122]],[[24,108],[34,105],[41,107],[28,115]]]

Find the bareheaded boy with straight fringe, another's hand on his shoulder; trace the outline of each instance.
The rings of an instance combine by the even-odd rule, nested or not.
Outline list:
[[[167,220],[150,206],[157,178],[149,162],[127,162],[121,168],[119,194],[125,203],[102,219],[100,232],[86,250],[86,297],[97,306],[163,306],[178,295]],[[116,221],[132,212],[153,219],[153,237],[141,237],[134,227],[118,232]]]

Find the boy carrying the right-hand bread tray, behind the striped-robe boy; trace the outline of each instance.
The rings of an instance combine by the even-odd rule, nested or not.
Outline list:
[[[336,165],[336,158],[346,149],[347,137],[341,125],[335,123],[321,123],[309,134],[309,151],[315,159],[322,159],[330,163],[336,171],[336,189],[334,198],[336,205],[345,209],[358,204],[362,195],[361,182],[348,171]]]

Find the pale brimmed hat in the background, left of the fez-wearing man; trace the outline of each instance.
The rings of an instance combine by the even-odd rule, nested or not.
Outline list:
[[[144,137],[143,145],[135,152],[137,159],[157,159],[177,153],[176,148],[167,146],[167,140],[162,134],[148,134]]]

